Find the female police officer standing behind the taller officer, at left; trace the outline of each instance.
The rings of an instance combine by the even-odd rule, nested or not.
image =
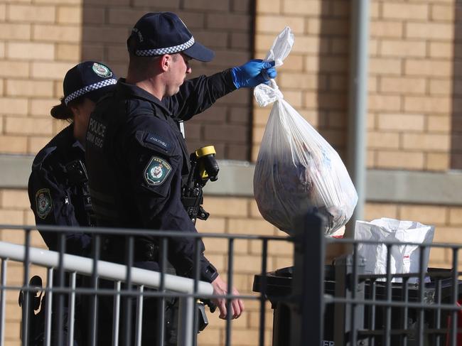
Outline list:
[[[41,225],[95,225],[85,169],[85,132],[96,102],[116,83],[117,79],[109,67],[95,61],[85,61],[66,73],[64,97],[60,104],[51,109],[53,118],[67,120],[70,125],[38,152],[28,182],[28,195],[36,225],[50,250],[60,249],[58,234],[41,230]],[[89,234],[66,232],[65,252],[85,256],[89,254],[90,242]],[[53,299],[53,311],[56,311],[56,305]],[[64,321],[63,340],[67,340],[67,310],[65,306],[62,315],[53,314]],[[79,323],[80,313],[83,311],[77,309],[74,345],[85,344],[85,325]],[[43,344],[43,322],[37,324],[36,330],[30,332],[30,345]],[[58,331],[53,328],[52,345],[58,345],[57,334]]]

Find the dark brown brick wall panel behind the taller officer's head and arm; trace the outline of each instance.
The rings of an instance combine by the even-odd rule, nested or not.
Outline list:
[[[83,1],[82,59],[101,60],[119,76],[127,73],[126,40],[134,23],[148,11],[178,13],[196,40],[215,50],[211,63],[193,61],[193,77],[210,75],[252,58],[252,0]],[[190,150],[215,145],[218,158],[249,160],[251,92],[239,90],[220,99],[197,119],[186,123]]]

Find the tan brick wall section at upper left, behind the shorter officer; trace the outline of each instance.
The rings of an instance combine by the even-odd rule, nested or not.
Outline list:
[[[80,61],[80,6],[0,4],[0,153],[36,153],[63,126],[49,114],[65,72]]]

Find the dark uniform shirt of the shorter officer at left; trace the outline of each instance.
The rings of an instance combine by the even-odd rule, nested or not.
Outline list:
[[[66,168],[69,163],[85,163],[85,151],[74,138],[73,129],[70,124],[57,134],[37,153],[32,164],[28,196],[39,232],[40,225],[90,226],[87,183],[77,183]],[[41,232],[41,236],[50,250],[58,249],[57,233]],[[81,232],[66,234],[66,250],[83,254],[90,240]]]

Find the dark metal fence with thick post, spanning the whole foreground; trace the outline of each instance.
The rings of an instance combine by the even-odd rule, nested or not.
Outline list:
[[[66,232],[75,229],[42,227],[55,232],[60,239],[60,251],[48,252],[30,246],[33,227],[0,225],[0,229],[23,232],[23,245],[0,242],[0,346],[5,345],[6,292],[22,290],[23,323],[22,345],[36,345],[28,340],[32,320],[37,314],[27,313],[36,308],[38,291],[45,292],[43,306],[43,340],[40,345],[75,345],[73,329],[82,320],[77,315],[77,301],[85,298],[88,329],[82,345],[103,345],[98,334],[109,329],[107,345],[146,345],[141,335],[151,333],[144,325],[144,314],[149,298],[156,298],[158,314],[156,328],[157,345],[163,344],[163,313],[168,298],[181,302],[178,313],[178,340],[176,345],[197,345],[200,316],[196,306],[198,298],[213,299],[210,283],[198,280],[195,267],[193,279],[173,276],[166,271],[168,242],[172,237],[218,238],[227,242],[226,279],[228,291],[235,281],[236,242],[241,239],[260,242],[261,266],[255,273],[253,290],[259,294],[220,296],[227,299],[228,310],[232,298],[258,301],[259,337],[255,345],[305,346],[305,345],[462,345],[461,272],[458,271],[458,252],[462,245],[412,244],[404,242],[371,242],[354,239],[331,239],[323,235],[323,220],[315,214],[301,217],[291,237],[263,237],[242,234],[183,234],[182,232],[147,231],[141,229],[82,228],[80,232],[92,234],[95,251],[91,256],[79,257],[65,253],[63,246]],[[114,264],[100,260],[99,242],[107,234],[127,237],[127,253],[133,257],[134,238],[142,235],[159,237],[161,270],[148,271],[130,265]],[[290,242],[294,245],[294,266],[267,273],[269,244]],[[198,242],[196,242],[198,244]],[[326,264],[326,248],[342,244],[350,249],[338,256],[332,264]],[[382,274],[365,272],[365,259],[358,253],[360,244],[381,244],[387,249],[385,271]],[[451,254],[451,268],[424,268],[424,256],[419,256],[419,270],[411,274],[395,274],[392,267],[392,249],[404,245],[417,246],[416,254],[426,254],[431,249],[446,249]],[[277,247],[276,247],[277,248]],[[198,263],[198,251],[196,251]],[[23,266],[23,284],[9,285],[6,271],[9,261],[20,261]],[[31,264],[47,270],[45,288],[38,288],[29,281]],[[130,264],[130,261],[129,261]],[[86,281],[79,281],[79,277]],[[108,284],[109,282],[109,284]],[[39,285],[40,286],[40,285]],[[53,297],[53,298],[51,298]],[[99,304],[110,299],[112,306],[110,325],[100,325]],[[127,303],[132,299],[133,304]],[[265,339],[267,325],[265,307],[271,301],[274,308],[272,340]],[[42,301],[43,303],[43,301]],[[126,304],[126,308],[124,308]],[[131,308],[130,308],[131,307]],[[66,318],[53,319],[53,315]],[[131,323],[133,320],[135,323]],[[66,328],[63,328],[67,326]],[[153,330],[154,330],[153,329]],[[53,334],[53,330],[55,334]],[[73,333],[73,335],[72,335]],[[206,333],[206,331],[205,331]],[[227,316],[224,337],[220,345],[232,344],[232,320]],[[56,339],[53,338],[56,336]],[[118,337],[122,335],[122,337]],[[131,336],[133,335],[133,336]],[[58,341],[56,341],[58,340]],[[308,341],[309,340],[309,343]],[[80,345],[80,344],[79,344]],[[218,345],[218,343],[217,343]]]

